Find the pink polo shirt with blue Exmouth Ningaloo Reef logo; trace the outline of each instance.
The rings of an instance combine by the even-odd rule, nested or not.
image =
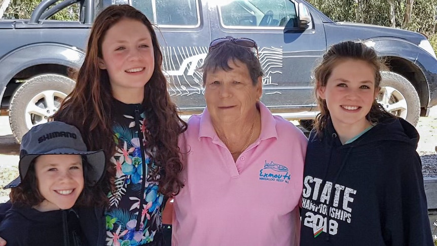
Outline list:
[[[307,138],[260,103],[261,134],[234,162],[207,109],[179,138],[185,187],[174,198],[173,245],[299,245]]]

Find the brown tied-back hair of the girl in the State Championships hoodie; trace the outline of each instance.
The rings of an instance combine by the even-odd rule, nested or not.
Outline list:
[[[317,95],[317,89],[326,86],[327,80],[331,77],[334,67],[341,61],[347,59],[356,59],[367,62],[374,71],[375,91],[380,89],[381,71],[387,70],[387,66],[383,59],[379,58],[373,48],[370,48],[362,42],[346,41],[331,46],[323,55],[320,64],[314,69],[314,96],[317,99],[317,104],[320,113],[314,121],[314,127],[319,136],[322,135],[322,130],[326,127],[327,120],[330,117],[330,112],[326,106],[326,100],[321,99]],[[376,99],[373,101],[370,112],[366,115],[366,119],[372,123],[378,123],[381,118],[395,117],[384,110]]]

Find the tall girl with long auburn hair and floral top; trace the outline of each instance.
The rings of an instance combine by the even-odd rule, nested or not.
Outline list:
[[[183,187],[177,139],[186,129],[167,92],[150,21],[128,5],[96,18],[76,88],[54,120],[76,126],[89,150],[103,149],[106,245],[163,245],[166,198]]]

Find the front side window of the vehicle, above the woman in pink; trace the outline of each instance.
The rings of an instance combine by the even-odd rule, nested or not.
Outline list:
[[[224,26],[278,27],[297,23],[296,7],[289,0],[235,0],[219,6]],[[290,25],[290,24],[288,24]]]

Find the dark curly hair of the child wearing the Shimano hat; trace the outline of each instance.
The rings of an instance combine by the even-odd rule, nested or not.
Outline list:
[[[26,177],[21,181],[20,185],[11,188],[9,197],[13,204],[21,206],[36,206],[44,201],[44,197],[38,190],[38,177],[35,173],[35,158],[29,165]],[[86,172],[89,171],[92,166],[88,163],[86,156],[82,156],[82,166],[84,170],[84,177]],[[84,178],[84,189],[78,197],[75,203],[75,207],[91,207],[91,206],[104,206],[107,204],[105,193],[102,192],[99,186],[92,186],[92,183]]]

